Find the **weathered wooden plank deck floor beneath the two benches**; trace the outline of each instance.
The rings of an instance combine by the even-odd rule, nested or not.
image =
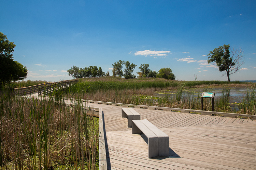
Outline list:
[[[169,135],[169,156],[148,158],[120,106],[102,108],[108,169],[256,169],[256,120],[134,108]]]

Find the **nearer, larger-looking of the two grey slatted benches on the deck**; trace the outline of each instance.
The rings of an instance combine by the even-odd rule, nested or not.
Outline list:
[[[148,158],[169,156],[169,136],[150,121],[132,120],[132,134],[143,133],[148,138]]]

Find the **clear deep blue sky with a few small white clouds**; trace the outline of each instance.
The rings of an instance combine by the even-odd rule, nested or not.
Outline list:
[[[176,80],[223,80],[210,50],[230,44],[245,63],[230,80],[256,80],[256,2],[252,1],[1,1],[0,32],[16,45],[26,80],[72,79],[72,66],[112,75],[119,60],[151,70],[170,67]]]

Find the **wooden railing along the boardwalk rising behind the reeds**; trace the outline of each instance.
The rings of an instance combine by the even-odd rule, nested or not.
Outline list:
[[[15,95],[18,96],[25,96],[25,95],[31,95],[34,93],[38,93],[39,95],[42,94],[48,94],[50,92],[53,92],[54,90],[58,90],[61,88],[67,88],[75,83],[77,83],[78,80],[65,80],[60,82],[50,82],[50,83],[43,83],[38,84],[34,86],[29,87],[23,87],[23,88],[15,88]]]

